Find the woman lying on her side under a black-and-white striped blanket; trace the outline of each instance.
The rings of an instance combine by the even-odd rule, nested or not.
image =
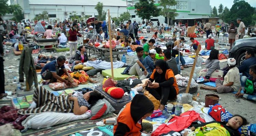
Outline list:
[[[97,91],[88,91],[84,93],[83,96],[55,96],[40,86],[35,89],[33,95],[33,101],[36,103],[36,106],[28,108],[27,110],[20,109],[18,113],[22,115],[30,115],[42,112],[73,112],[75,115],[82,115],[99,99],[103,98],[104,96],[99,94]]]

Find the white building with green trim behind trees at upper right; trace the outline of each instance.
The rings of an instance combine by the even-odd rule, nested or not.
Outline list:
[[[136,10],[133,5],[137,3],[139,0],[127,0],[128,2],[128,10],[129,13],[132,16],[131,20],[136,19],[137,22],[142,22],[142,19],[139,18],[134,11]],[[176,9],[176,13],[179,15],[175,19],[179,18],[205,18],[209,17],[211,15],[211,6],[210,6],[210,0],[176,0],[177,5],[171,7],[173,9]],[[163,8],[160,6],[160,0],[155,0],[155,5],[158,8]],[[151,20],[154,23],[154,26],[156,26],[157,20],[159,20],[160,23],[167,23],[167,18],[163,16],[159,17],[152,17]],[[144,20],[146,21],[146,20]],[[178,23],[178,22],[177,22]],[[170,24],[172,24],[172,21],[170,19]]]

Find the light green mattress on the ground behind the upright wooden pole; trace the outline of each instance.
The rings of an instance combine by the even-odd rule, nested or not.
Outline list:
[[[128,74],[121,74],[122,72],[124,72],[125,68],[115,68],[113,70],[114,72],[114,80],[124,80],[128,77],[130,77],[131,75]],[[104,77],[109,76],[111,77],[111,69],[106,69],[106,70],[102,70],[102,75]],[[137,76],[138,77],[138,76]]]

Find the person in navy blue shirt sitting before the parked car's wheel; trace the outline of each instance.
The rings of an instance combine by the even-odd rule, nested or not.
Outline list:
[[[246,76],[247,78],[250,77],[249,67],[256,64],[256,57],[254,56],[254,54],[254,50],[247,49],[245,52],[245,60],[238,68],[239,72],[243,73],[243,76]]]

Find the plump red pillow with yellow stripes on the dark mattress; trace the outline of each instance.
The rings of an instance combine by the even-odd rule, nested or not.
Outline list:
[[[120,99],[124,96],[125,91],[122,88],[119,87],[106,87],[102,89],[103,91],[107,92],[110,96],[116,99]]]

